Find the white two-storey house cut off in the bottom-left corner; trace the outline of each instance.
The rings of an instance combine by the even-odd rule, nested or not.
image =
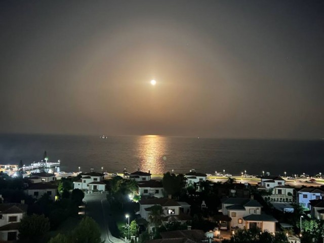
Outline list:
[[[26,211],[25,204],[0,204],[0,242],[18,239],[18,227]]]

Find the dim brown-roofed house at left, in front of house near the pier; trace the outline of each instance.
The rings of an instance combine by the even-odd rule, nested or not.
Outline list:
[[[35,199],[39,199],[44,194],[48,194],[52,200],[55,200],[57,195],[57,186],[50,182],[33,183],[24,191],[27,195],[30,195]]]

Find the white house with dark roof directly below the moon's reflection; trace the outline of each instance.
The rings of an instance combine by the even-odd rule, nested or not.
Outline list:
[[[164,197],[164,189],[161,181],[149,180],[138,182],[138,194],[148,197]]]

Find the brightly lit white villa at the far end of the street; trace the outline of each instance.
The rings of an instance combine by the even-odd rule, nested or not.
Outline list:
[[[105,191],[106,184],[103,182],[104,174],[89,172],[81,174],[81,179],[73,182],[73,189],[89,191]]]

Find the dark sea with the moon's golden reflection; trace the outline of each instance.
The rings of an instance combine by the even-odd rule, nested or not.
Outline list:
[[[0,164],[61,160],[61,171],[186,173],[191,169],[262,175],[324,173],[323,140],[211,139],[168,136],[0,135]]]

